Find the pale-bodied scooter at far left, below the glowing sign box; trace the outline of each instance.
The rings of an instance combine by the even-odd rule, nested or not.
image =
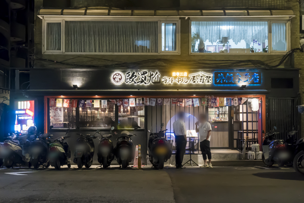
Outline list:
[[[6,168],[12,168],[14,166],[26,165],[31,167],[29,148],[30,142],[26,140],[26,135],[19,135],[10,133],[3,143],[2,157],[3,165]]]

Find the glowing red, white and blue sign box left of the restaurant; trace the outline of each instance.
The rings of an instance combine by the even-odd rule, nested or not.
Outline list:
[[[15,101],[15,131],[27,132],[29,127],[34,126],[34,100]]]

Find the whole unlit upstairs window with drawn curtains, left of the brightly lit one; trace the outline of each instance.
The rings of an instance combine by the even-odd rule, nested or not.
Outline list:
[[[45,20],[44,53],[179,54],[179,20]]]

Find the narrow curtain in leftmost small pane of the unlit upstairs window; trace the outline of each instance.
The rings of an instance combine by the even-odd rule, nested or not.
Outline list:
[[[61,50],[61,23],[47,23],[47,50]]]

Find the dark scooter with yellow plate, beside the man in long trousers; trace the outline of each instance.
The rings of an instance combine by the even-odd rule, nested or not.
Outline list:
[[[161,124],[161,128],[164,127],[164,123]],[[167,140],[164,138],[165,131],[161,130],[158,133],[152,133],[150,130],[149,141],[148,141],[148,153],[149,160],[155,168],[163,169],[164,162],[170,159],[172,151],[168,146]]]

